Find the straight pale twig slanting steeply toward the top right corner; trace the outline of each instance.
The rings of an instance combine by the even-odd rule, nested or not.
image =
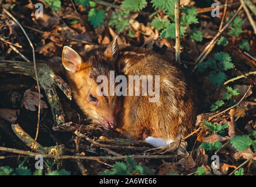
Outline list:
[[[201,61],[201,57],[204,56],[205,53],[207,53],[208,49],[210,49],[210,47],[214,44],[215,40],[218,39],[218,37],[220,37],[221,33],[223,33],[223,31],[225,29],[227,29],[227,27],[230,25],[231,22],[233,22],[233,20],[235,19],[235,17],[238,15],[238,13],[241,11],[242,9],[242,5],[240,5],[240,7],[238,8],[237,12],[235,13],[235,15],[230,19],[230,21],[220,30],[218,31],[218,33],[214,36],[214,38],[210,41],[210,43],[206,46],[206,48],[204,49],[204,51],[200,54],[200,56],[197,58],[197,60],[195,61],[195,63],[197,64],[199,61]],[[197,65],[194,67],[194,70],[196,70]]]

